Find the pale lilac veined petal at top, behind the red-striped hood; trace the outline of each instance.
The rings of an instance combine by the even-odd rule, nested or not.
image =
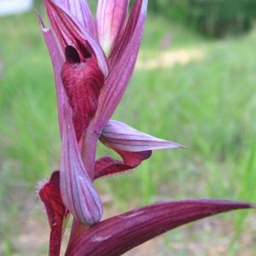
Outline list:
[[[90,12],[90,7],[85,0],[62,0],[63,5],[68,11],[79,20],[84,29],[96,38],[96,26]]]

